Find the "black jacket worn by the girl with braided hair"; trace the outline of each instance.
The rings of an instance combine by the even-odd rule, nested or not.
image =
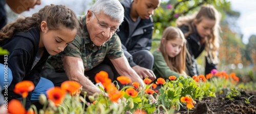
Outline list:
[[[8,87],[8,101],[13,98],[22,100],[22,96],[13,92],[16,83],[22,80],[31,80],[36,86],[39,82],[39,72],[49,56],[47,50],[44,49],[44,54],[41,56],[39,62],[31,69],[38,51],[39,39],[39,30],[31,29],[24,33],[16,33],[11,38],[0,42],[0,46],[9,51],[7,63],[13,75],[13,80]],[[5,62],[4,57],[4,55],[0,56],[0,63],[2,64]],[[2,93],[4,94],[4,91]],[[31,94],[32,92],[27,97],[26,109],[30,107]]]

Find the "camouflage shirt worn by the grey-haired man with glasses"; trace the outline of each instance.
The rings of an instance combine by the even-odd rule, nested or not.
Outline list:
[[[80,18],[80,19],[79,19]],[[84,71],[88,71],[99,65],[104,58],[117,59],[124,56],[121,41],[117,34],[101,46],[95,46],[90,39],[86,16],[78,17],[82,27],[82,35],[77,35],[73,42],[69,43],[64,51],[57,55],[50,56],[45,68],[54,69],[56,72],[64,72],[61,56],[73,56],[81,58]]]

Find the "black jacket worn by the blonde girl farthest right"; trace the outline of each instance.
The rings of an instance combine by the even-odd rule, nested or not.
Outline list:
[[[185,34],[189,31],[188,26],[185,26],[185,25],[180,26],[179,28],[183,32],[183,34]],[[201,37],[199,36],[199,34],[197,32],[194,32],[186,37],[186,40],[187,40],[186,46],[187,46],[187,49],[191,56],[191,61],[188,61],[188,59],[186,59],[186,68],[189,72],[188,75],[190,75],[190,76],[200,75],[196,59],[203,52],[203,50],[205,49],[205,45],[206,45],[206,43],[200,44],[200,39],[201,39]],[[212,69],[217,69],[216,64],[209,63],[207,61],[207,56],[205,56],[205,63],[206,63],[205,75],[210,73],[210,71]]]

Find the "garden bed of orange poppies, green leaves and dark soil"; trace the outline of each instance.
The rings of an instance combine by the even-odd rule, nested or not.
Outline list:
[[[102,77],[105,77],[102,79]],[[102,93],[89,96],[81,92],[81,85],[76,81],[65,81],[61,87],[54,87],[40,96],[41,108],[32,107],[29,111],[52,113],[255,113],[256,114],[256,86],[251,82],[239,82],[234,73],[217,72],[206,76],[190,77],[169,76],[168,79],[158,78],[152,83],[145,78],[142,88],[138,82],[133,86],[127,83],[131,79],[119,76],[117,80],[123,88],[109,80],[107,74],[101,71],[95,76],[101,79],[99,88]],[[109,80],[109,81],[106,81]],[[20,82],[24,84],[27,82]],[[20,86],[17,86],[20,87]],[[159,87],[159,88],[157,88]],[[18,89],[15,87],[15,89]],[[153,89],[153,90],[152,90]],[[29,90],[31,91],[31,90]],[[105,92],[108,96],[105,95]],[[22,93],[17,93],[22,94]],[[56,97],[57,96],[57,97]],[[154,97],[152,99],[152,97]],[[48,98],[48,99],[47,99]],[[26,99],[26,98],[24,98]],[[153,101],[156,99],[156,101]],[[11,101],[12,102],[12,101]],[[20,101],[9,103],[8,111],[17,111],[17,105],[25,110]],[[155,102],[155,103],[153,103]],[[189,111],[188,111],[189,110]],[[12,113],[12,112],[10,112]],[[13,112],[14,113],[14,112]],[[24,112],[25,113],[25,112]]]

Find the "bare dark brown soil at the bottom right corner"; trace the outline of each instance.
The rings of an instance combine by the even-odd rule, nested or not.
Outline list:
[[[256,114],[256,90],[240,91],[241,96],[233,97],[234,100],[225,98],[226,94],[218,94],[215,98],[205,97],[201,101],[197,101],[195,108],[189,110],[190,114],[199,113],[254,113]],[[249,99],[250,103],[245,100]],[[187,108],[182,107],[176,113],[187,113]]]

